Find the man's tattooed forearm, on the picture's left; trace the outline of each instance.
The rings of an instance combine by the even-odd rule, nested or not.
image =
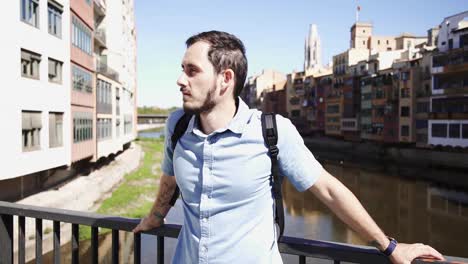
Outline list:
[[[158,196],[151,208],[151,216],[164,218],[171,209],[170,201],[177,184],[174,176],[163,174],[159,183]],[[162,220],[162,219],[161,219]]]

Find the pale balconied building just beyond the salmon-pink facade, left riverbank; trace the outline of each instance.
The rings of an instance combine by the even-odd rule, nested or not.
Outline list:
[[[99,7],[103,15],[97,14]],[[97,158],[115,154],[136,138],[136,29],[134,2],[95,0]],[[112,25],[112,26],[109,26]],[[99,41],[102,42],[102,41]]]

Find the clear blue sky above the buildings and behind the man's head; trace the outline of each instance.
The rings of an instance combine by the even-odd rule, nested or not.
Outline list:
[[[264,68],[288,73],[303,67],[309,24],[318,26],[324,63],[346,50],[357,5],[360,21],[372,22],[375,35],[426,36],[445,17],[468,10],[468,0],[136,0],[138,106],[181,105],[176,80],[193,34],[215,29],[238,36],[248,76]]]

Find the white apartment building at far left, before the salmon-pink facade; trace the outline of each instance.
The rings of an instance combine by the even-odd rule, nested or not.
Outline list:
[[[70,164],[69,6],[69,0],[3,1],[0,180]],[[22,182],[16,187],[29,188]]]

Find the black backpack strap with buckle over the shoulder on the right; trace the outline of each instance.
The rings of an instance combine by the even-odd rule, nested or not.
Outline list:
[[[271,159],[271,176],[273,198],[275,199],[275,222],[280,229],[278,240],[284,232],[284,208],[283,195],[281,193],[281,181],[278,168],[278,129],[276,128],[276,116],[274,113],[262,113],[263,139],[268,146],[268,153]]]

